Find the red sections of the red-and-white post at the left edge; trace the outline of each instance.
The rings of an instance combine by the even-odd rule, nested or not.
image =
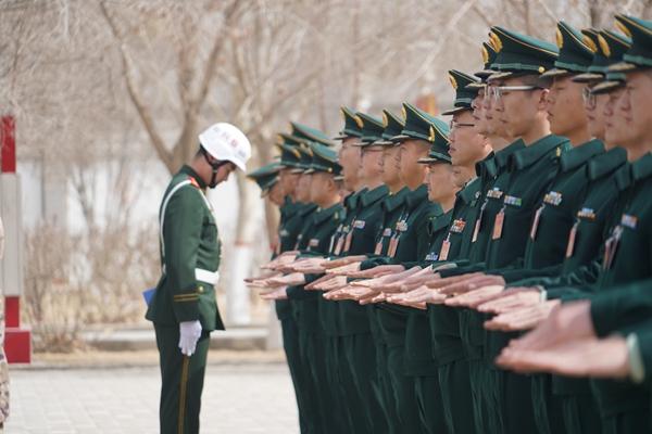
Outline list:
[[[0,117],[0,173],[16,173],[16,125],[13,116]],[[32,361],[32,333],[21,329],[21,297],[4,297],[4,353],[10,363]]]

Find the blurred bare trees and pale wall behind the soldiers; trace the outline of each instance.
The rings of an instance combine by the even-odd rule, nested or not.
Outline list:
[[[215,122],[250,169],[296,120],[335,135],[339,106],[452,105],[447,71],[481,67],[491,25],[554,41],[555,22],[614,28],[651,0],[1,0],[0,115],[15,123],[23,320],[36,350],[88,330],[147,328],[171,174]],[[276,210],[243,174],[210,193],[224,242],[227,327],[274,322],[242,285],[269,257]],[[271,319],[272,318],[272,319]]]

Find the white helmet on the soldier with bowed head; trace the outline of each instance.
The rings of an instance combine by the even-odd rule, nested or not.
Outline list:
[[[212,157],[231,162],[240,170],[247,170],[251,144],[238,127],[226,123],[211,125],[199,135],[199,142]]]

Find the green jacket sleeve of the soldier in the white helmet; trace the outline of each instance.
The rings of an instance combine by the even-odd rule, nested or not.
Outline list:
[[[163,225],[165,279],[178,322],[199,319],[199,286],[195,277],[204,213],[200,191],[184,187],[172,196]]]

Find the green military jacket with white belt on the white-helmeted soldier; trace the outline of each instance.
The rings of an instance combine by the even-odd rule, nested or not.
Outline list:
[[[159,217],[163,273],[146,314],[156,324],[199,320],[203,330],[224,330],[214,286],[221,243],[205,188],[184,166],[165,190]]]

